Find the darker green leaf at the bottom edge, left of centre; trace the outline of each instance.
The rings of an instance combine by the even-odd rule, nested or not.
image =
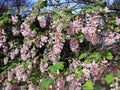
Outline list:
[[[47,77],[42,80],[42,82],[39,84],[40,90],[47,89],[50,84],[52,84],[52,79]]]

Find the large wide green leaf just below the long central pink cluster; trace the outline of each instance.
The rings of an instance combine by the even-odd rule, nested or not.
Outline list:
[[[56,74],[57,70],[64,69],[64,62],[57,62],[55,65],[48,67],[51,73]]]

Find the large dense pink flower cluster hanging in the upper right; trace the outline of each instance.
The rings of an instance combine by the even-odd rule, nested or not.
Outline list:
[[[85,35],[86,40],[96,45],[98,42],[96,31],[99,25],[99,16],[97,12],[94,12],[92,15],[87,14],[86,17],[86,26],[82,28],[82,33]]]

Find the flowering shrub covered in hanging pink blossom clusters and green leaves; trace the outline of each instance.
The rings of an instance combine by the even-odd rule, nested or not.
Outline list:
[[[46,1],[38,2],[23,20],[0,17],[0,86],[120,89],[120,18],[103,2],[78,14],[44,7]]]

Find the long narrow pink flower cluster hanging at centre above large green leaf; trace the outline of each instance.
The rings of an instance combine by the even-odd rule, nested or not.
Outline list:
[[[55,23],[55,22],[53,22]],[[58,27],[55,29],[55,32],[50,34],[52,40],[49,41],[50,44],[53,45],[53,47],[50,49],[50,52],[48,53],[49,59],[55,64],[57,61],[59,61],[59,55],[63,49],[64,46],[64,37],[61,32],[61,25],[59,24]]]

